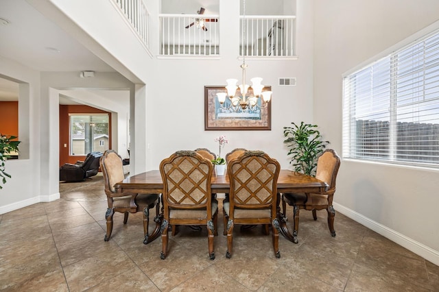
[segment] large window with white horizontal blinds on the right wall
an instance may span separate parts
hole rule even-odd
[[[343,156],[439,168],[439,32],[344,77]]]

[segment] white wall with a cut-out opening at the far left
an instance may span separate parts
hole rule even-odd
[[[0,56],[0,75],[21,83],[19,97],[19,135],[23,134],[19,160],[5,162],[12,175],[1,184],[0,214],[35,204],[40,197],[40,73]]]

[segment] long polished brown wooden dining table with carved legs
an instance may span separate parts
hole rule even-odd
[[[281,213],[279,206],[281,200],[281,193],[323,193],[327,190],[328,184],[322,182],[317,178],[297,173],[288,169],[281,169],[277,180],[277,204],[278,204],[278,221],[280,225],[279,231],[281,234],[292,241],[298,243],[297,237],[291,234],[287,228],[285,216]],[[158,170],[146,171],[137,175],[132,175],[125,180],[115,184],[117,192],[130,193],[150,193],[161,194],[163,192],[163,180]],[[212,193],[229,193],[230,182],[228,175],[216,175],[215,171],[211,180]],[[148,236],[147,243],[154,241],[161,234],[163,212],[154,218],[156,228]],[[145,243],[145,244],[147,244]]]

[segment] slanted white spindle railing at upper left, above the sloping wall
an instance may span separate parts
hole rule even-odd
[[[121,13],[126,17],[132,25],[134,32],[148,49],[150,46],[150,37],[148,34],[149,17],[143,0],[112,0],[117,5]]]

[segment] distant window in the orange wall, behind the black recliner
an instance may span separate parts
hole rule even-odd
[[[70,155],[109,149],[108,114],[70,114]]]

